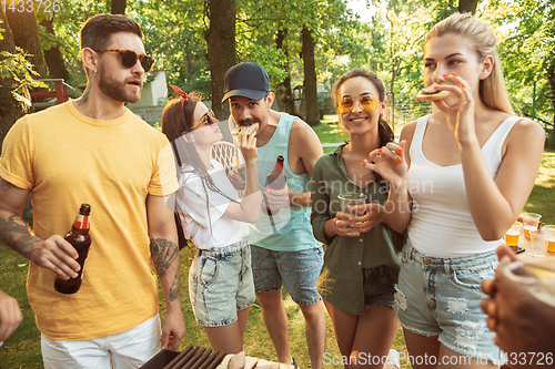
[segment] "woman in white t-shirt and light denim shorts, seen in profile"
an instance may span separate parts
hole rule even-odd
[[[181,99],[165,105],[162,132],[179,167],[178,226],[196,247],[189,270],[191,305],[214,350],[240,352],[255,300],[246,223],[260,215],[256,139],[246,131],[238,137],[248,178],[240,201],[222,165],[210,158],[212,145],[222,140],[218,120],[194,93],[172,88]]]

